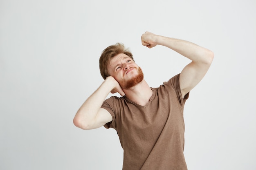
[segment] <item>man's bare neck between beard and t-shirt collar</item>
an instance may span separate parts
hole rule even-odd
[[[144,79],[136,86],[123,90],[128,99],[141,106],[145,106],[149,102],[153,94],[151,88],[148,86],[147,82]]]

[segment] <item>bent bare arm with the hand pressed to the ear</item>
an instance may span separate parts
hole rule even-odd
[[[117,80],[113,77],[107,77],[101,86],[79,108],[73,119],[74,125],[81,129],[89,130],[99,128],[112,121],[110,113],[101,108],[105,98],[111,91],[124,95],[124,91]]]

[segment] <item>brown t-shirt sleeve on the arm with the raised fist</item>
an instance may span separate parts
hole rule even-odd
[[[174,88],[177,98],[180,102],[181,105],[184,105],[186,102],[186,99],[189,98],[189,93],[187,93],[184,98],[182,97],[181,94],[181,89],[180,89],[180,74],[175,75],[174,77],[172,77],[169,81],[169,84],[171,84],[171,86]]]

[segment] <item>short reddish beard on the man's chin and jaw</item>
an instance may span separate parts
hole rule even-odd
[[[122,80],[121,82],[119,82],[121,88],[124,89],[129,89],[137,84],[139,84],[144,78],[144,74],[141,70],[141,68],[138,68],[138,75],[136,75],[135,77],[132,77],[131,79],[128,80]]]

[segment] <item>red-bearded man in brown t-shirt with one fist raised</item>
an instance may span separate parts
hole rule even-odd
[[[124,149],[123,170],[187,170],[183,108],[189,91],[207,73],[213,52],[150,32],[141,35],[141,42],[148,48],[166,46],[192,62],[159,88],[150,88],[130,51],[119,43],[109,46],[100,57],[105,81],[78,110],[74,124],[115,128]],[[105,100],[110,92],[122,97]]]

